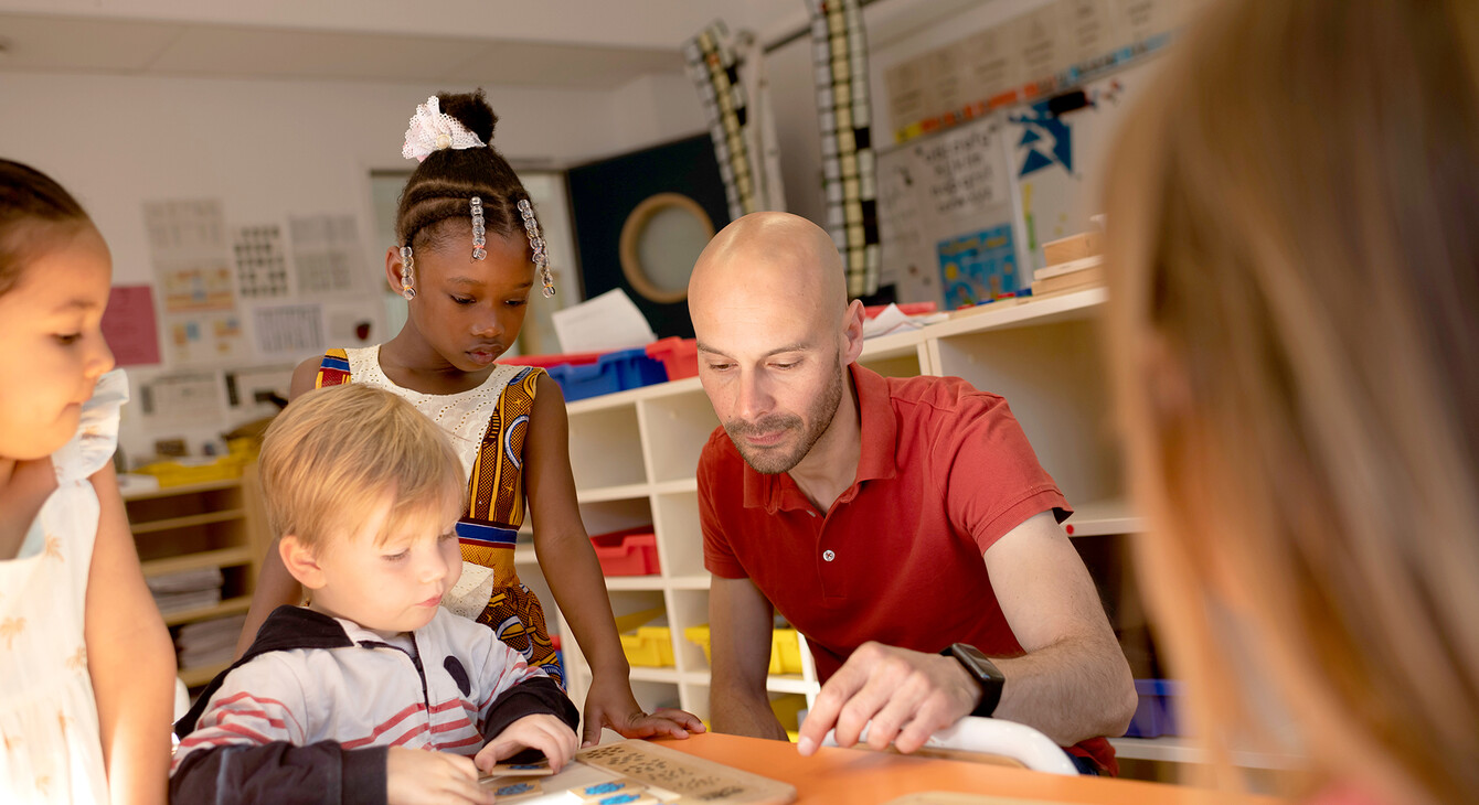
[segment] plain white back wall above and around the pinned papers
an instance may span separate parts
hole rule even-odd
[[[379,282],[386,244],[374,235],[370,171],[411,165],[401,158],[407,120],[442,89],[463,87],[0,72],[0,157],[78,196],[112,250],[117,285],[154,281],[142,204],[189,198],[223,199],[228,225],[353,213]],[[494,143],[516,165],[583,162],[704,130],[698,96],[679,77],[609,93],[485,89],[500,118]],[[130,369],[135,388],[158,374]],[[157,436],[200,449],[253,418],[161,433],[132,414],[123,446],[136,458]]]

